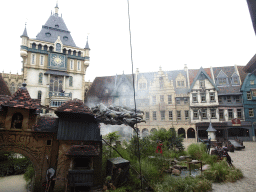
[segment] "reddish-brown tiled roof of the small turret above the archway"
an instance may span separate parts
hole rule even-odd
[[[40,100],[31,99],[26,87],[19,88],[8,101],[3,103],[7,107],[39,110]]]

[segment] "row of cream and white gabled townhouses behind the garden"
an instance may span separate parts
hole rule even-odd
[[[217,138],[252,140],[252,121],[247,120],[242,85],[247,73],[243,66],[134,74],[136,107],[146,123],[138,124],[141,136],[156,129],[174,128],[187,140],[208,137],[210,122]],[[86,104],[134,108],[132,75],[96,77],[87,93]],[[254,117],[252,117],[254,119]]]

